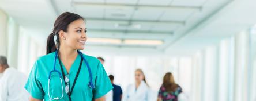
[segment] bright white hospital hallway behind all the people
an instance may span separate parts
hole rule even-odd
[[[55,20],[71,12],[84,18],[88,30],[81,52],[104,59],[105,78],[114,76],[123,99],[129,85],[136,84],[135,70],[141,69],[148,100],[157,100],[163,77],[170,72],[182,88],[179,100],[256,101],[255,4],[255,0],[0,0],[0,56],[28,80],[35,62],[46,55]],[[3,88],[0,101],[5,101]]]

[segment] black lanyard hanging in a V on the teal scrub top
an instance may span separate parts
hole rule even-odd
[[[59,55],[58,55],[58,60],[59,60],[59,65],[61,66],[61,72],[62,72],[63,80],[65,80],[65,73],[64,73],[64,71],[63,71],[63,67],[62,67],[62,65],[61,65],[61,59],[59,58]],[[70,92],[67,94],[67,95],[69,95],[69,100],[70,100],[70,101],[71,101],[71,94],[72,94],[72,92],[73,92],[74,86],[76,85],[77,77],[78,77],[78,75],[79,75],[79,73],[80,73],[81,66],[82,66],[82,58],[81,58],[80,65],[79,65],[79,68],[78,68],[78,71],[77,71],[77,75],[76,75],[76,77],[75,77],[75,79],[74,79],[73,86],[72,86],[72,88],[70,89]],[[69,80],[69,81],[70,81],[70,80]],[[64,82],[65,82],[65,81],[64,81]],[[65,85],[66,85],[66,84],[67,84],[67,83],[65,82]],[[70,84],[70,83],[69,83],[69,84]]]

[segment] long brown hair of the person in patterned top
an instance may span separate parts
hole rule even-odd
[[[176,89],[179,87],[179,85],[175,83],[174,76],[170,72],[164,75],[163,86],[166,88],[166,91],[168,92],[175,92]]]

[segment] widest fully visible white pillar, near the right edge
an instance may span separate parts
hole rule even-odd
[[[234,100],[248,100],[247,74],[249,57],[249,33],[242,32],[235,36],[235,72]]]

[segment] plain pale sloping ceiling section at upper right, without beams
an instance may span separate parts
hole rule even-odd
[[[256,22],[254,0],[235,0],[165,49],[167,53],[195,53],[205,46],[216,46],[224,38],[249,30]]]

